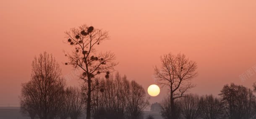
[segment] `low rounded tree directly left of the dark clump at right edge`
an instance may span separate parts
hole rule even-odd
[[[201,96],[200,101],[201,118],[203,119],[221,119],[225,114],[220,99],[211,95]]]

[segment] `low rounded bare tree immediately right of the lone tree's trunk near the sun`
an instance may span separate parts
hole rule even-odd
[[[179,106],[184,119],[198,119],[200,116],[199,96],[188,94],[180,98]]]

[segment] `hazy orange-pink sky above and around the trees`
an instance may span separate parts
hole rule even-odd
[[[98,50],[113,51],[116,70],[145,89],[154,84],[160,56],[169,52],[198,63],[191,93],[217,95],[225,84],[251,88],[256,81],[255,0],[2,0],[0,104],[19,103],[21,83],[30,80],[39,53],[52,53],[63,75],[72,73],[63,65],[63,50],[70,49],[64,31],[82,24],[109,31],[111,39]],[[242,82],[239,75],[250,68],[255,74]]]

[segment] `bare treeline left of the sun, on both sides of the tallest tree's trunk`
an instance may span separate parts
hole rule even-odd
[[[31,80],[22,84],[21,113],[31,119],[77,119],[87,109],[88,86],[67,87],[55,58],[46,52],[32,62]],[[143,119],[149,105],[144,88],[119,73],[91,81],[94,119]]]

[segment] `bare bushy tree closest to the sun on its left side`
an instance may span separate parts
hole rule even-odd
[[[149,105],[149,99],[145,99],[146,92],[141,85],[131,81],[130,92],[126,96],[126,111],[128,119],[143,119],[143,110]]]

